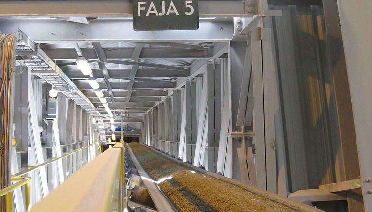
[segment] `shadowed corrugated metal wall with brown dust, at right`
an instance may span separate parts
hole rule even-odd
[[[275,5],[272,19],[289,191],[333,183],[340,146],[322,6]],[[338,170],[337,170],[338,171]]]

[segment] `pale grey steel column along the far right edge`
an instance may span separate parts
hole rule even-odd
[[[338,0],[356,130],[364,210],[372,211],[372,2]],[[368,26],[368,27],[367,27]]]

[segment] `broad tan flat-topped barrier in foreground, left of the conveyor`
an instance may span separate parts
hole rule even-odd
[[[32,206],[30,212],[122,212],[122,152],[122,147],[107,149]]]

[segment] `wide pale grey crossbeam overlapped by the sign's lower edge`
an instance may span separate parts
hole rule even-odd
[[[17,1],[17,3],[18,2],[20,1]],[[74,3],[75,2],[77,1],[74,1]],[[243,2],[240,3],[242,5],[244,4]],[[15,9],[19,8],[18,4],[16,4],[16,6],[14,3],[11,5],[14,6]],[[55,4],[50,5],[54,7]],[[84,7],[88,5],[90,4],[84,3]],[[0,14],[2,14],[3,11],[2,6],[3,4],[0,4]],[[61,8],[63,7],[58,8],[58,10],[62,11]],[[241,9],[243,9],[243,7]],[[223,11],[220,8],[219,10]],[[153,42],[155,38],[160,42],[186,42],[190,40],[195,42],[221,42],[231,40],[234,33],[233,21],[200,21],[199,29],[197,30],[140,32],[133,30],[132,21],[115,19],[98,19],[91,21],[89,25],[57,19],[1,19],[0,26],[3,33],[14,33],[17,28],[22,29],[22,31],[36,43],[105,42],[108,40],[117,42],[123,40],[131,40],[132,42]]]

